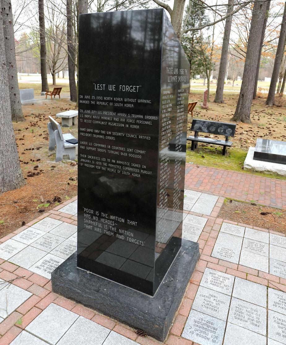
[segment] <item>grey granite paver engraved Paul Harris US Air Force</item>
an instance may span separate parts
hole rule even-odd
[[[228,322],[266,335],[266,308],[232,297]]]

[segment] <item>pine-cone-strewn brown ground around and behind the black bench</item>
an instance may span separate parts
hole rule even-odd
[[[210,93],[209,109],[200,109],[202,101],[202,93],[191,93],[189,101],[198,101],[194,109],[194,118],[202,118],[206,120],[214,120],[221,122],[230,121],[234,115],[238,94],[225,95],[224,104],[212,102],[214,100],[214,92]],[[240,122],[236,126],[235,136],[230,138],[233,141],[233,147],[247,149],[249,146],[255,146],[257,138],[286,140],[286,107],[268,107],[265,105],[266,98],[258,98],[253,101],[250,119],[252,124],[244,124]],[[192,118],[188,118],[188,129],[191,128]],[[233,122],[235,123],[235,122]],[[189,135],[194,132],[189,131]],[[222,136],[206,134],[212,138],[222,139]]]

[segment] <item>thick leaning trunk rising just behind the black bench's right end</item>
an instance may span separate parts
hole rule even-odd
[[[254,3],[249,31],[243,78],[238,97],[237,107],[231,120],[251,123],[250,107],[252,103],[260,38],[266,14],[267,4],[264,1]]]

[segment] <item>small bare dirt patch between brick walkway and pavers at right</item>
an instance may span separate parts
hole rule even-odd
[[[225,199],[218,217],[286,234],[286,212],[280,209]]]

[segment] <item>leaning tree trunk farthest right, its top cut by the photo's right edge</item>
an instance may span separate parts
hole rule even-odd
[[[285,36],[286,36],[286,3],[284,5],[284,13],[283,13],[283,18],[282,18],[282,23],[281,23],[281,28],[280,28],[280,36],[278,40],[278,46],[277,46],[277,51],[276,51],[276,56],[275,56],[275,61],[274,61],[271,82],[270,82],[269,91],[268,91],[268,97],[266,100],[266,104],[269,106],[275,105],[276,83],[277,83],[277,78],[280,71],[283,52],[284,52]]]

